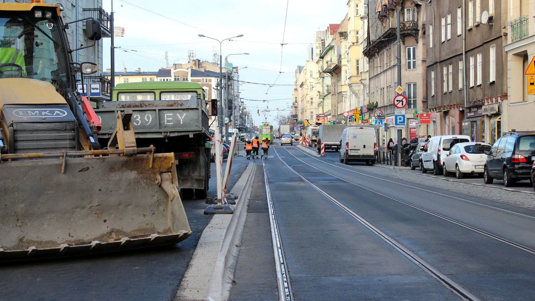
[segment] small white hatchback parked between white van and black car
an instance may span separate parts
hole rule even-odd
[[[447,156],[442,159],[442,174],[449,176],[455,172],[457,179],[462,179],[464,174],[483,175],[487,155],[492,146],[484,142],[461,142],[449,150]]]

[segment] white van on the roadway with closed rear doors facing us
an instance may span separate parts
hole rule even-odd
[[[342,133],[340,162],[375,164],[377,137],[373,127],[350,126]]]

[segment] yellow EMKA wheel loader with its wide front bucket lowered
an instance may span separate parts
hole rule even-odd
[[[38,2],[38,1],[33,1]],[[86,18],[88,40],[100,23]],[[75,21],[77,22],[77,21]],[[108,145],[75,87],[60,5],[0,4],[0,261],[174,244],[192,234],[173,153],[137,148],[131,111]],[[83,75],[82,75],[83,76]]]

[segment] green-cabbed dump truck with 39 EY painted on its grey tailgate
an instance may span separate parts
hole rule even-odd
[[[182,198],[205,199],[210,178],[208,101],[201,84],[187,81],[145,81],[118,84],[112,101],[98,104],[101,143],[110,139],[118,112],[132,110],[136,144],[154,145],[158,153],[174,153]]]

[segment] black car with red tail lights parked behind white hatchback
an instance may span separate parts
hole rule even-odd
[[[531,180],[535,160],[535,132],[509,132],[494,142],[485,162],[485,184],[503,179],[503,185],[513,186],[518,180]]]

